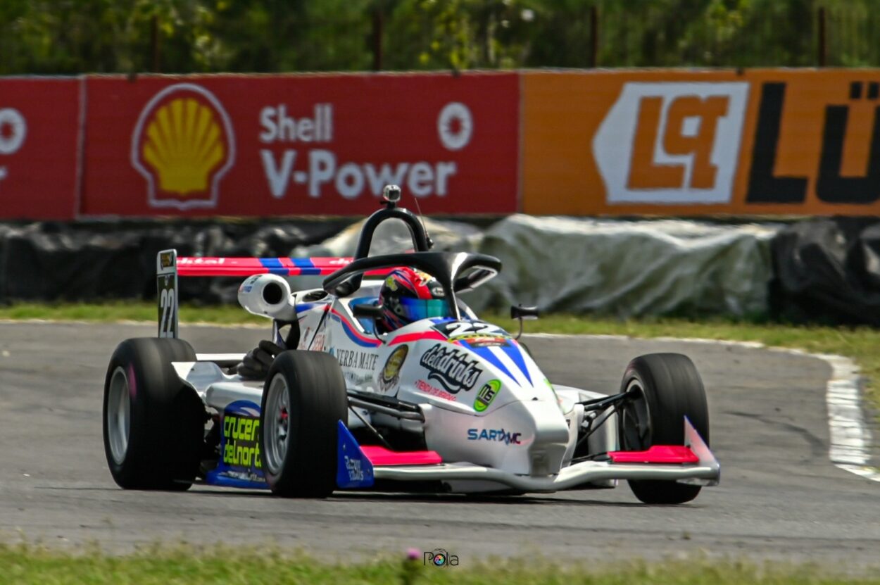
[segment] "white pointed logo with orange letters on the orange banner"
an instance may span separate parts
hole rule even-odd
[[[606,201],[729,203],[748,93],[744,82],[624,84],[592,142]]]

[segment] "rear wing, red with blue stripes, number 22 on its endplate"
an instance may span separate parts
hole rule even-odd
[[[178,276],[320,276],[348,266],[351,258],[192,258],[177,250],[156,257],[159,337],[178,337]]]

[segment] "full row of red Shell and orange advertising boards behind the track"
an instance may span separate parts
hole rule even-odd
[[[877,216],[880,69],[0,80],[0,219]]]

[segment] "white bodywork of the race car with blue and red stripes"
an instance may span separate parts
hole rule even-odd
[[[613,486],[617,479],[681,479],[704,484],[718,479],[715,458],[689,424],[686,442],[693,445],[699,464],[571,464],[584,416],[583,406],[577,403],[604,395],[550,384],[517,340],[495,325],[476,320],[466,308],[461,321],[422,319],[377,335],[370,323],[355,318],[351,307],[375,303],[381,281],[364,281],[352,296],[324,296],[312,302],[303,299],[319,296],[319,291],[290,293],[285,282],[279,306],[262,303],[257,308],[249,303],[248,292],[261,290],[270,278],[282,281],[264,274],[243,283],[239,302],[248,311],[270,318],[274,312],[295,314],[301,333],[297,349],[333,354],[350,392],[420,407],[423,421],[357,409],[376,428],[423,434],[427,448],[444,461],[377,467],[377,479],[439,480],[458,492],[552,492],[585,484]],[[199,355],[199,362],[175,362],[174,367],[208,406],[223,413],[238,400],[261,403],[262,381],[225,374],[215,363],[237,362],[241,357]],[[351,411],[347,423],[349,428],[363,426]],[[590,435],[590,453],[617,448],[615,425],[616,418],[611,416]]]

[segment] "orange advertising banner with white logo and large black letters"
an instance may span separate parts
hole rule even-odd
[[[880,70],[522,75],[524,213],[880,215]]]

